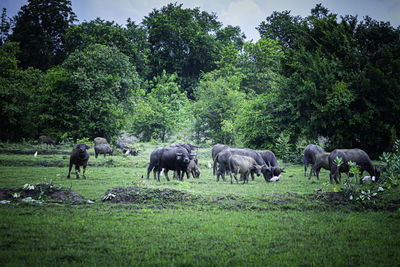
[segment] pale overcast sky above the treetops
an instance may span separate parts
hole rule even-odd
[[[240,26],[248,40],[260,38],[255,29],[273,11],[290,10],[292,15],[306,17],[316,4],[338,15],[358,15],[359,20],[370,16],[378,21],[389,21],[397,28],[400,24],[399,0],[71,0],[72,10],[80,22],[96,17],[124,25],[127,18],[139,24],[154,8],[168,3],[182,3],[184,8],[200,7],[214,12],[224,26]],[[7,8],[7,15],[18,13],[24,0],[0,0],[0,7]]]

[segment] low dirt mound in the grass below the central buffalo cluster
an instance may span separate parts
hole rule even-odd
[[[176,202],[191,202],[197,197],[179,190],[174,189],[153,189],[144,187],[114,187],[107,190],[103,197],[103,201],[112,203],[135,203],[135,204],[157,204],[164,205]]]

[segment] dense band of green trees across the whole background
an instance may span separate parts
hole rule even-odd
[[[287,155],[319,137],[371,155],[398,138],[400,28],[274,12],[259,41],[214,13],[169,4],[142,22],[78,23],[68,0],[29,0],[0,25],[1,140],[125,130]]]

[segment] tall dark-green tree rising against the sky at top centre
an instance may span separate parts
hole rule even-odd
[[[222,24],[216,15],[198,8],[183,9],[182,4],[168,4],[154,9],[142,24],[150,44],[151,75],[159,76],[164,70],[177,73],[183,90],[190,95],[200,73],[213,70],[218,60],[213,33]]]

